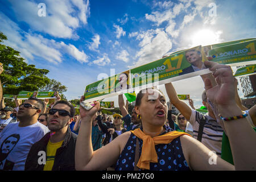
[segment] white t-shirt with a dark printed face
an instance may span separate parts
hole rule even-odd
[[[0,133],[0,169],[22,171],[32,144],[49,132],[48,127],[36,122],[19,127],[10,123]]]

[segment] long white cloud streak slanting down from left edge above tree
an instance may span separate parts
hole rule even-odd
[[[80,63],[88,61],[84,51],[79,51],[72,44],[67,45],[63,42],[56,42],[38,34],[28,34],[2,13],[0,13],[0,24],[2,25],[1,31],[8,38],[5,41],[5,45],[19,51],[20,56],[27,60],[34,60],[35,56],[38,56],[56,64],[61,63],[63,55],[67,54],[80,61]]]

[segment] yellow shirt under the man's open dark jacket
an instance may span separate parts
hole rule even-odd
[[[44,171],[52,171],[52,167],[55,160],[56,151],[61,147],[63,140],[57,143],[52,143],[50,140],[46,147],[46,165],[44,165]]]

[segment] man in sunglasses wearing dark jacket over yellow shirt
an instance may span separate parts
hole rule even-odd
[[[74,106],[68,101],[57,101],[48,111],[47,126],[50,130],[31,147],[25,170],[74,171],[77,135],[69,127],[75,115]]]

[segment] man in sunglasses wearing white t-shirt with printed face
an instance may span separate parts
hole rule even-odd
[[[0,133],[0,145],[2,146],[6,139],[15,135],[15,146],[7,152],[8,155],[0,154],[3,170],[24,170],[24,165],[28,152],[32,144],[38,142],[46,133],[48,128],[38,122],[40,112],[44,107],[43,101],[38,98],[29,98],[19,105],[17,118],[19,122],[9,123]],[[7,144],[7,143],[6,143]],[[7,147],[6,147],[7,148]],[[3,162],[3,160],[5,162]],[[0,161],[1,162],[1,161]]]

